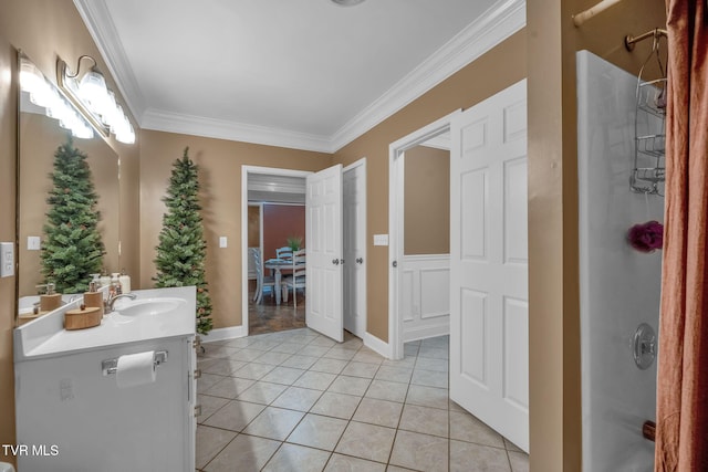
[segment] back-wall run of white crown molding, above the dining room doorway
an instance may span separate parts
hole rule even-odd
[[[317,153],[333,153],[332,141],[326,136],[248,125],[227,119],[170,113],[155,108],[145,111],[142,128]]]

